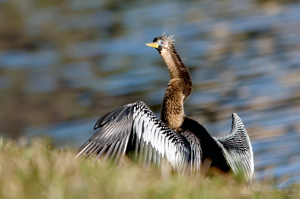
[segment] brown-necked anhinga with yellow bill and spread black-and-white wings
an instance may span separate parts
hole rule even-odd
[[[241,119],[232,114],[228,135],[212,137],[207,130],[184,114],[184,101],[192,93],[189,70],[177,53],[173,35],[155,37],[147,46],[158,50],[170,73],[158,118],[143,102],[124,105],[105,114],[98,129],[79,147],[76,158],[100,156],[122,164],[125,153],[144,165],[171,165],[178,174],[200,175],[205,160],[210,167],[243,174],[250,186],[254,173],[253,150]]]

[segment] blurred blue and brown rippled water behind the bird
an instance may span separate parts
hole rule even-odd
[[[0,133],[79,147],[117,107],[160,116],[170,76],[145,43],[163,32],[193,78],[185,114],[220,136],[237,113],[255,178],[300,182],[300,1],[0,0]]]

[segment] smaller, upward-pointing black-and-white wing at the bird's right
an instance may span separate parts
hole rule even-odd
[[[250,139],[238,115],[232,114],[230,134],[213,138],[221,147],[232,171],[235,174],[243,172],[250,185],[254,173],[253,151]]]

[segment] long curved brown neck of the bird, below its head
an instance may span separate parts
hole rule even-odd
[[[161,120],[170,128],[179,130],[185,117],[183,102],[192,92],[192,79],[173,46],[170,49],[163,49],[160,54],[171,78],[164,96]]]

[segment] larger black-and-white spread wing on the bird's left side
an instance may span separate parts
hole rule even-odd
[[[100,128],[100,129],[98,129]],[[118,108],[96,123],[95,134],[83,144],[76,157],[105,158],[120,164],[128,148],[146,164],[161,164],[167,160],[174,169],[183,173],[187,165],[199,171],[201,148],[194,136],[175,132],[166,126],[143,102],[135,102]],[[196,141],[195,141],[196,139]],[[191,147],[191,142],[199,144]],[[188,168],[187,168],[188,169]]]

